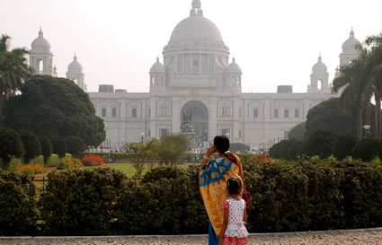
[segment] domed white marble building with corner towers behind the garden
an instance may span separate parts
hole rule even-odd
[[[351,31],[342,44],[340,66],[358,56],[358,43]],[[231,143],[266,149],[304,122],[309,109],[333,97],[321,57],[312,67],[306,92],[280,85],[276,93],[244,93],[241,68],[229,55],[218,27],[204,17],[200,0],[193,0],[190,16],[175,26],[164,46],[163,63],[157,57],[149,70],[149,92],[127,92],[111,84],[89,92],[96,115],[105,123],[102,145],[114,149],[151,137],[192,132],[200,146],[214,136],[227,135]],[[39,74],[57,75],[52,57],[40,30],[31,44],[30,65]],[[76,55],[67,67],[67,78],[86,91]]]

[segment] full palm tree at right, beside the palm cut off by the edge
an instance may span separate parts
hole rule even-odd
[[[373,88],[367,69],[368,51],[359,47],[360,56],[351,64],[340,68],[340,75],[333,80],[332,92],[342,89],[340,101],[342,106],[356,110],[357,136],[362,137],[362,111],[367,108]]]

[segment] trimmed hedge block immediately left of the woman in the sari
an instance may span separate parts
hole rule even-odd
[[[198,167],[159,167],[122,190],[118,227],[130,234],[202,233],[208,217],[199,193]],[[134,206],[136,212],[131,212]],[[143,215],[144,214],[144,215]]]

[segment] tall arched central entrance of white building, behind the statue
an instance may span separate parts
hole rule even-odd
[[[181,125],[191,120],[195,143],[202,146],[209,139],[209,109],[200,101],[188,101],[181,110]]]

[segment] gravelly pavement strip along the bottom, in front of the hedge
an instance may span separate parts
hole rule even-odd
[[[208,244],[207,235],[110,237],[0,237],[0,244]],[[382,228],[325,232],[253,233],[248,244],[382,244]]]

